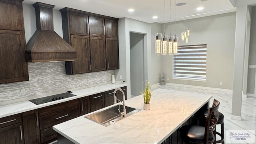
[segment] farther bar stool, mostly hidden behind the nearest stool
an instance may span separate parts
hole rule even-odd
[[[208,110],[206,110],[204,112],[204,117],[205,118],[207,118],[207,114],[208,114]],[[225,144],[225,142],[224,142],[224,115],[221,112],[219,112],[219,120],[218,120],[217,124],[220,124],[221,133],[216,132],[216,134],[218,134],[221,137],[221,139],[220,140],[215,140],[215,143]]]

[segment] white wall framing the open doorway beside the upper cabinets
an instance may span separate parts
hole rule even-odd
[[[160,69],[159,63],[152,62],[155,58],[154,53],[152,53],[152,33],[151,24],[146,22],[141,22],[138,20],[133,20],[130,18],[121,18],[118,21],[118,35],[119,35],[119,62],[120,69],[115,70],[116,80],[120,80],[119,76],[122,75],[122,80],[127,81],[127,98],[130,98],[130,32],[135,32],[139,34],[144,34],[144,56],[145,56],[145,80],[152,81],[153,83],[158,83],[156,78],[158,75],[156,71]],[[160,59],[160,57],[156,58]],[[156,81],[156,82],[155,82]]]

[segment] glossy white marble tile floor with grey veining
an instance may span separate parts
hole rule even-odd
[[[226,130],[255,130],[256,131],[256,98],[255,97],[242,98],[242,112],[241,112],[242,121],[238,121],[238,120],[231,120],[232,91],[221,90],[221,89],[214,90],[211,88],[204,88],[204,87],[193,88],[186,85],[184,86],[165,85],[165,86],[159,86],[159,87],[163,89],[168,89],[168,90],[177,90],[177,91],[183,91],[183,92],[212,95],[213,97],[210,100],[210,106],[212,105],[214,98],[220,101],[219,112],[222,112],[222,114],[224,114],[225,137],[226,137]],[[220,132],[220,126],[217,125],[216,131]],[[220,137],[217,136],[217,140],[219,138]],[[225,140],[225,143],[231,143],[231,142],[227,142]]]

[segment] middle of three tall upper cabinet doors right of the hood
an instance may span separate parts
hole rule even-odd
[[[105,38],[90,37],[92,72],[106,70]]]

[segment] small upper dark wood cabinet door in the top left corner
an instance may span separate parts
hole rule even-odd
[[[24,30],[22,2],[0,1],[0,29]]]

